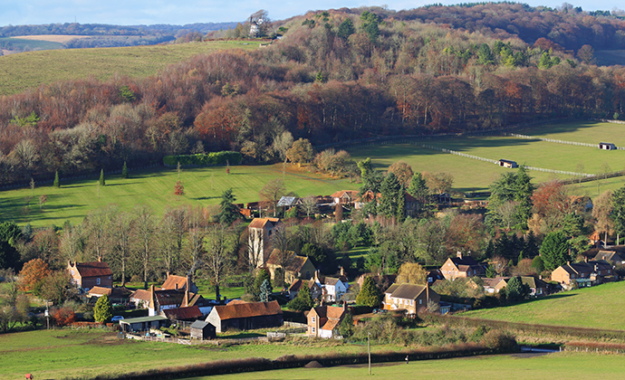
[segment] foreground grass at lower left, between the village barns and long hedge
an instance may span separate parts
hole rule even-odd
[[[399,349],[372,347],[374,352]],[[363,352],[366,347],[335,345],[332,341],[190,347],[120,340],[115,333],[100,329],[39,330],[0,335],[0,379],[24,378],[28,373],[37,379],[83,378],[243,357],[275,359],[284,355]]]

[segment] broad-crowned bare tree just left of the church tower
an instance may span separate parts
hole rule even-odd
[[[219,299],[219,287],[236,262],[236,235],[222,223],[213,224],[207,230],[204,248],[207,252],[204,267]]]

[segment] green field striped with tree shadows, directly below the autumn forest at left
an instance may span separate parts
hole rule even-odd
[[[186,195],[177,200],[174,185],[178,181],[176,169],[130,172],[130,178],[107,177],[106,186],[100,187],[98,198],[97,180],[81,180],[63,183],[61,188],[51,185],[36,187],[34,196],[30,188],[7,190],[0,193],[0,220],[15,223],[31,223],[34,226],[61,225],[69,220],[81,223],[89,212],[107,204],[117,204],[121,209],[132,210],[138,204],[149,204],[156,214],[162,214],[167,207],[177,205],[208,206],[218,204],[221,193],[232,187],[236,202],[247,203],[259,200],[258,192],[270,180],[282,178],[282,165],[274,166],[230,166],[230,175],[225,167],[183,168],[180,181]],[[357,189],[358,184],[349,180],[330,180],[306,172],[289,172],[284,176],[287,193],[294,195],[331,195],[342,189]],[[39,209],[39,196],[47,195],[47,203]]]

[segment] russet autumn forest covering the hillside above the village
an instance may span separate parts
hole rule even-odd
[[[490,9],[510,23],[526,12],[553,28],[558,20],[604,25],[605,39],[625,31],[616,16],[568,8],[442,8],[474,19]],[[622,118],[625,69],[596,66],[592,44],[573,52],[549,35],[528,42],[519,36],[530,34],[472,32],[377,11],[275,22],[272,33],[283,38],[266,49],[200,55],[148,79],[57,82],[3,97],[0,183],[225,149],[248,163],[272,162],[282,158],[275,146],[284,132],[320,145],[535,119]]]

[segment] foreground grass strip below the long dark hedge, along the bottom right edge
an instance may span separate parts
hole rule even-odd
[[[586,353],[555,353],[546,356],[521,357],[477,356],[443,360],[392,364],[374,364],[371,373],[376,379],[429,380],[445,378],[464,380],[484,379],[622,379],[622,355],[593,355]],[[329,368],[297,368],[265,372],[249,372],[236,375],[194,377],[209,379],[275,379],[317,380],[320,378],[353,379],[368,377],[367,365],[335,366]]]

